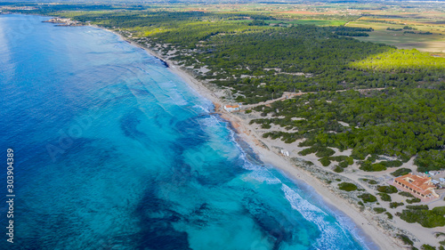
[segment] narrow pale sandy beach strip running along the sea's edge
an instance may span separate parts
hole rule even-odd
[[[237,113],[229,113],[222,109],[224,102],[219,99],[211,90],[209,90],[206,85],[201,83],[198,79],[191,76],[189,72],[181,69],[175,61],[168,60],[160,55],[158,52],[151,50],[148,47],[144,47],[141,44],[137,44],[131,39],[127,39],[125,36],[117,33],[115,30],[110,30],[108,28],[102,28],[96,25],[90,25],[94,28],[101,28],[107,30],[117,36],[119,36],[123,41],[132,44],[136,47],[143,49],[150,55],[156,57],[166,64],[166,68],[170,69],[172,73],[181,77],[184,82],[190,86],[191,89],[195,90],[198,94],[203,96],[214,104],[214,113],[219,114],[224,120],[229,122],[232,129],[237,133],[242,141],[247,142],[253,152],[263,161],[265,165],[271,165],[272,167],[278,169],[280,172],[284,173],[287,178],[291,181],[303,181],[304,184],[312,187],[316,191],[317,195],[320,196],[322,201],[330,209],[336,209],[342,214],[346,215],[351,222],[359,229],[358,234],[360,237],[366,240],[371,240],[375,246],[380,249],[404,249],[402,246],[396,242],[395,238],[388,235],[388,232],[384,231],[380,226],[376,225],[376,221],[373,220],[372,216],[374,214],[368,213],[364,214],[359,211],[355,206],[352,206],[345,198],[336,194],[333,190],[329,190],[325,183],[320,181],[319,178],[313,176],[310,172],[296,166],[294,163],[289,161],[286,157],[279,156],[279,154],[271,150],[271,145],[264,143],[261,137],[255,133],[255,128],[253,128],[248,123],[244,122],[242,118],[237,116]],[[269,143],[270,144],[270,143]],[[266,149],[266,146],[269,149]],[[301,157],[304,159],[304,157]],[[336,211],[334,211],[336,212]],[[366,242],[365,242],[366,243]]]

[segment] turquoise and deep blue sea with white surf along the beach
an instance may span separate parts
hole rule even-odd
[[[46,19],[0,16],[0,158],[14,150],[16,194],[14,244],[2,234],[1,249],[376,247],[255,160],[160,60]]]

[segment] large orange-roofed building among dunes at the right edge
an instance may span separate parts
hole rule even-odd
[[[434,191],[436,186],[431,181],[431,177],[408,173],[394,178],[394,186],[408,190],[411,194],[420,198],[439,198],[439,195]]]

